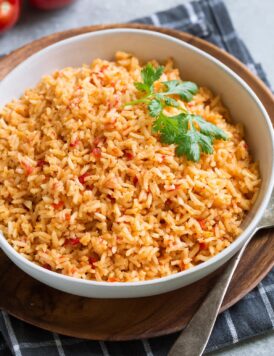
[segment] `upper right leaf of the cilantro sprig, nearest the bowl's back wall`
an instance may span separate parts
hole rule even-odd
[[[191,101],[193,95],[198,92],[198,87],[192,82],[181,82],[180,80],[170,80],[163,82],[166,87],[164,95],[178,94],[181,99],[185,101]]]

